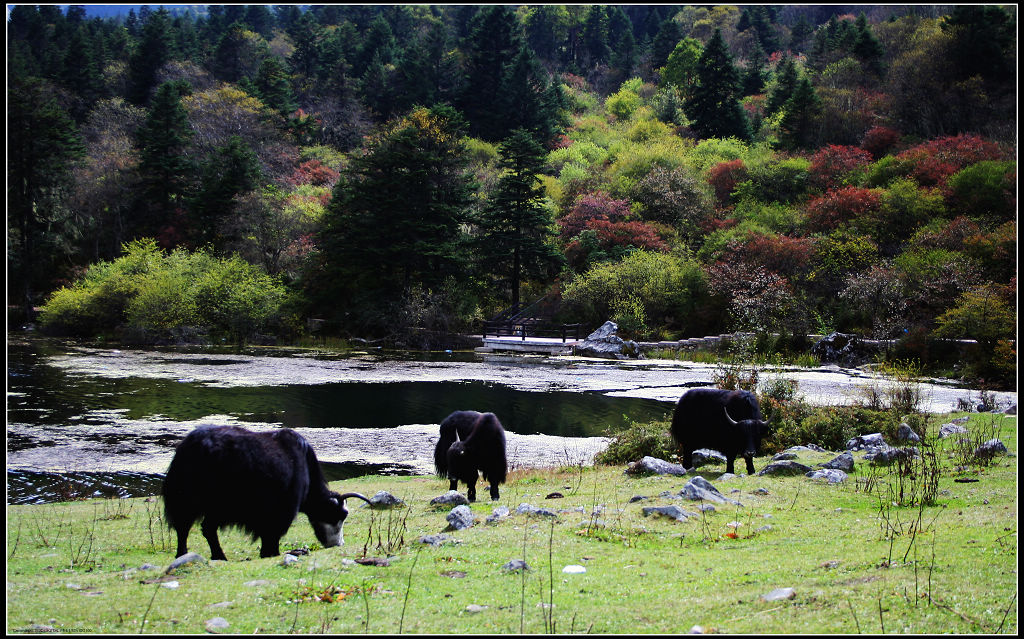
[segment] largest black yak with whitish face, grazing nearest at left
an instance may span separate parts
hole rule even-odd
[[[312,446],[290,428],[255,433],[238,426],[201,426],[177,446],[164,479],[167,524],[178,535],[177,557],[188,552],[188,530],[203,520],[211,559],[226,559],[217,529],[236,526],[261,540],[260,557],[281,553],[281,538],[305,513],[325,548],[344,544],[345,500],[330,491]]]

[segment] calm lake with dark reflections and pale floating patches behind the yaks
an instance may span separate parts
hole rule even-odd
[[[717,368],[685,361],[474,352],[345,355],[304,349],[103,348],[22,334],[7,339],[7,502],[159,493],[174,445],[202,424],[287,426],[330,480],[429,474],[437,425],[453,411],[495,413],[512,468],[590,464],[628,421],[667,419]],[[870,372],[765,370],[815,404],[863,400]],[[979,393],[920,384],[922,409]],[[995,393],[1016,406],[1016,392]]]

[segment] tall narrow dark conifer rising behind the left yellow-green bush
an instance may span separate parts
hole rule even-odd
[[[145,122],[136,132],[141,176],[140,235],[155,235],[172,218],[195,176],[185,147],[193,135],[181,97],[187,83],[165,82],[157,89]]]

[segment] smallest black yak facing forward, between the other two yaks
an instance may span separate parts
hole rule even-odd
[[[497,500],[498,484],[505,483],[508,474],[508,461],[505,429],[495,414],[456,411],[441,422],[440,434],[434,446],[434,468],[438,476],[451,481],[450,489],[458,489],[462,481],[468,486],[466,497],[475,502],[479,472],[490,482],[490,499]]]

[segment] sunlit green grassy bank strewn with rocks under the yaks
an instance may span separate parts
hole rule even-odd
[[[315,546],[300,516],[282,548],[311,552],[287,566],[226,531],[228,561],[164,577],[174,542],[159,500],[8,506],[7,632],[200,633],[222,617],[219,632],[229,633],[1016,634],[1016,418],[975,415],[968,427],[977,420],[994,422],[1010,455],[964,464],[950,439],[937,440],[934,505],[904,495],[925,477],[872,468],[860,454],[841,484],[720,480],[724,468],[703,467],[742,506],[683,522],[642,508],[699,512],[659,497],[687,477],[632,477],[623,466],[514,471],[498,504],[472,506],[475,525],[433,547],[419,539],[446,525],[446,510],[429,506],[446,482],[362,477],[332,487],[388,491],[409,507],[353,505],[346,545],[332,549]],[[809,466],[834,457],[799,456]],[[554,492],[564,497],[546,499]],[[649,499],[630,503],[634,496]],[[558,517],[517,514],[522,503]],[[512,513],[485,523],[499,505]],[[209,554],[198,527],[189,550]],[[389,565],[353,561],[365,558]],[[513,559],[530,569],[503,570]],[[563,572],[567,565],[586,572]],[[762,599],[780,588],[793,598]]]

